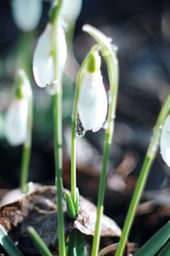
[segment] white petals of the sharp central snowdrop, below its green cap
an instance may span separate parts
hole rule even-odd
[[[78,114],[83,128],[98,131],[105,122],[107,96],[101,72],[85,73],[82,78]]]

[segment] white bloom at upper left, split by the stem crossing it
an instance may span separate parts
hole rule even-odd
[[[48,24],[38,39],[37,47],[33,57],[33,73],[37,85],[45,87],[54,82],[54,58],[52,53],[52,32],[53,26]],[[58,61],[61,72],[65,67],[67,48],[65,42],[65,33],[62,27],[58,31],[59,40],[57,40],[59,53]],[[57,47],[57,46],[56,46]]]

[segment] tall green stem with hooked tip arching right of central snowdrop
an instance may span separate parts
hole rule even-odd
[[[116,53],[112,50],[111,44],[108,38],[102,32],[95,29],[93,26],[83,26],[83,30],[88,32],[100,45],[101,53],[105,59],[105,63],[108,70],[109,81],[110,81],[110,93],[111,102],[109,102],[109,113],[107,118],[107,128],[105,130],[105,144],[104,154],[102,161],[102,170],[99,181],[99,195],[97,204],[97,219],[94,231],[94,241],[92,247],[92,256],[97,256],[99,252],[99,236],[100,236],[100,225],[103,214],[103,205],[105,198],[105,185],[107,176],[108,160],[111,148],[111,140],[114,130],[114,119],[116,115],[116,99],[118,90],[118,65],[116,59]]]

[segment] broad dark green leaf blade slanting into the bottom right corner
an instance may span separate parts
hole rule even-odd
[[[170,221],[165,224],[161,230],[158,230],[154,236],[139,249],[134,256],[152,256],[159,252],[170,238]],[[163,255],[163,254],[162,254]],[[169,254],[170,255],[170,254]]]

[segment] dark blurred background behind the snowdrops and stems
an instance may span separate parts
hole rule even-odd
[[[24,1],[24,0],[23,0]],[[18,187],[22,147],[11,147],[4,135],[4,116],[13,99],[18,67],[26,69],[34,96],[34,125],[29,180],[54,184],[52,97],[37,87],[32,55],[48,22],[50,1],[42,2],[37,29],[22,32],[14,22],[11,1],[0,3],[0,188]],[[120,86],[116,131],[111,148],[105,213],[122,226],[136,184],[152,128],[170,83],[170,2],[165,0],[82,0],[76,26],[67,30],[70,54],[64,77],[64,183],[70,188],[71,110],[78,65],[94,41],[82,32],[88,23],[118,46]],[[75,28],[75,30],[74,30]],[[66,28],[65,28],[66,29]],[[73,44],[71,45],[71,38]],[[105,88],[108,78],[103,65]],[[105,130],[77,137],[77,184],[82,195],[96,202]],[[146,185],[143,203],[133,227],[132,240],[143,243],[170,216],[170,170],[157,154]],[[166,209],[166,211],[165,211]],[[139,233],[139,225],[144,233]]]

